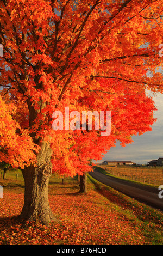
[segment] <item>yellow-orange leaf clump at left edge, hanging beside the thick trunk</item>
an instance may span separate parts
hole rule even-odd
[[[39,147],[33,144],[32,138],[13,120],[16,107],[12,103],[5,104],[0,96],[0,161],[10,163],[12,167],[35,164],[33,153]]]

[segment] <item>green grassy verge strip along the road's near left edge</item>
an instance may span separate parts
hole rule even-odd
[[[141,233],[147,241],[150,241],[151,245],[163,245],[163,214],[161,212],[115,191],[91,176],[89,176],[89,179],[98,193],[111,200],[112,209],[126,216],[127,220],[133,223],[136,228],[139,227]]]

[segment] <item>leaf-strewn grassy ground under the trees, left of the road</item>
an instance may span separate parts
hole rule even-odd
[[[12,173],[13,174],[13,173]],[[11,174],[11,175],[12,175]],[[10,173],[7,174],[10,176]],[[0,179],[0,245],[162,245],[163,214],[112,188],[87,180],[87,193],[79,193],[78,180],[52,176],[49,203],[60,223],[18,222],[24,184]]]

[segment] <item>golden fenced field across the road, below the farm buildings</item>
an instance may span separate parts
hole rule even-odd
[[[163,185],[163,167],[100,166],[106,172],[123,179],[129,179],[153,186]]]

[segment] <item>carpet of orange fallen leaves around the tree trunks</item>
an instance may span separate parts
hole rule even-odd
[[[79,186],[74,183],[49,186],[49,203],[61,222],[46,227],[39,222],[16,221],[13,217],[21,212],[24,190],[4,188],[4,198],[0,199],[0,245],[149,244],[135,211],[132,218],[124,214],[123,200],[117,206],[91,184],[86,194],[78,191]],[[115,196],[110,192],[110,197]]]

